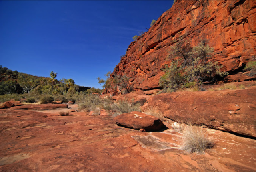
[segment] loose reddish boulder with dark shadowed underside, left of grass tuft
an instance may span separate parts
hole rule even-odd
[[[114,118],[117,125],[135,130],[158,131],[165,127],[160,119],[141,112],[123,113]]]

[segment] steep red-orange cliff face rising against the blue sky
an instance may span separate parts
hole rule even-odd
[[[185,34],[192,45],[207,38],[214,47],[211,61],[219,61],[229,75],[238,74],[246,63],[256,60],[255,18],[256,1],[177,1],[129,45],[112,75],[127,75],[135,90],[159,88],[161,67],[169,63],[168,51]],[[228,79],[240,81],[245,76]]]

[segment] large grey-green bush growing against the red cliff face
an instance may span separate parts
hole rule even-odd
[[[184,88],[188,83],[196,83],[202,85],[203,81],[216,81],[216,77],[224,77],[227,72],[222,72],[222,66],[218,65],[218,61],[212,63],[208,59],[213,53],[213,48],[207,45],[207,40],[195,47],[190,45],[188,40],[182,38],[171,48],[170,57],[178,57],[170,63],[162,71],[165,74],[160,78],[159,84],[163,87],[164,92],[172,92],[178,88]]]

